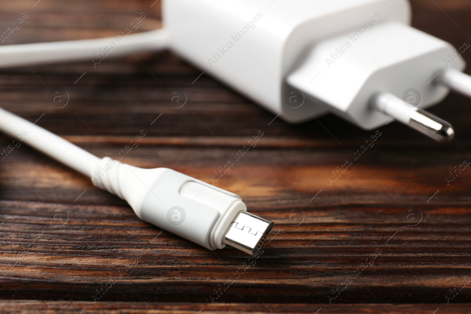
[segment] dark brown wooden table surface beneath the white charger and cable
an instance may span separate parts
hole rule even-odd
[[[1,45],[113,36],[140,12],[139,31],[161,26],[161,1],[35,3],[0,1],[1,32],[28,14]],[[415,27],[471,42],[469,0],[414,0],[413,12]],[[275,222],[256,263],[144,223],[21,145],[0,161],[0,313],[471,312],[471,169],[446,181],[471,160],[470,99],[452,93],[430,108],[455,126],[454,141],[389,124],[329,185],[375,131],[332,115],[286,124],[201,73],[168,51],[2,69],[0,104],[99,157],[145,132],[122,162],[205,182],[261,130],[215,182]],[[11,142],[0,135],[1,150]]]

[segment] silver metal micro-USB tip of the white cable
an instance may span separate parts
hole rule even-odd
[[[241,210],[224,233],[222,242],[255,256],[273,225],[272,221]]]

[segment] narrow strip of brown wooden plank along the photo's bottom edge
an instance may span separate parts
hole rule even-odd
[[[0,301],[1,313],[148,313],[148,314],[197,314],[197,313],[347,313],[347,314],[385,314],[385,313],[410,313],[430,314],[437,310],[435,304],[262,304],[262,303],[143,303],[143,302],[80,302],[80,301]],[[439,307],[442,313],[461,314],[469,313],[467,305],[442,305]],[[437,312],[438,313],[438,312]]]

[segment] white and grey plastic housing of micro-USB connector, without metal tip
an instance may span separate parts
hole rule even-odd
[[[169,168],[143,169],[105,157],[91,177],[142,220],[209,249],[225,247],[224,233],[247,210],[236,194]]]

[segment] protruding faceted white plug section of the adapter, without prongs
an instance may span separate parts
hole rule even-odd
[[[385,22],[365,33],[357,32],[317,43],[287,82],[315,103],[329,106],[337,116],[366,130],[387,124],[391,117],[408,124],[394,113],[373,110],[370,101],[376,93],[395,95],[403,100],[403,107],[427,108],[450,91],[433,80],[437,74],[447,66],[458,70],[465,67],[451,44],[408,25]],[[447,65],[444,59],[449,58],[454,62]],[[313,71],[320,74],[310,82]]]

